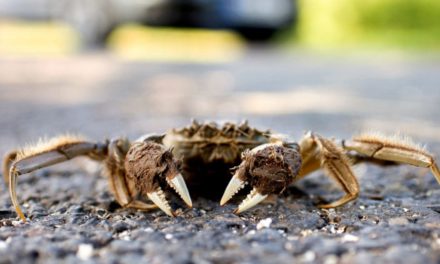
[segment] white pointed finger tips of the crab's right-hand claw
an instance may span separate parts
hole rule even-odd
[[[220,205],[224,205],[227,203],[239,190],[241,190],[247,182],[240,180],[237,175],[234,175],[229,182],[226,190],[223,194],[222,199],[220,200]],[[241,202],[238,208],[234,211],[235,214],[239,214],[248,210],[249,208],[254,207],[259,204],[261,201],[267,198],[267,194],[261,194],[254,187],[252,191],[248,194],[248,196]]]

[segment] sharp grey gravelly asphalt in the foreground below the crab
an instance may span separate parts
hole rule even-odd
[[[102,177],[42,170],[20,179],[29,222],[17,221],[2,191],[0,262],[438,263],[434,178],[397,167],[357,171],[362,195],[338,209],[315,207],[340,195],[318,173],[240,216],[234,204],[198,198],[193,209],[174,203],[179,216],[170,218],[120,208]]]

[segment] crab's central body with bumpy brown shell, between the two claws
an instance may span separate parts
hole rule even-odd
[[[241,124],[199,124],[169,131],[162,143],[182,160],[182,174],[191,194],[217,199],[231,179],[231,169],[246,150],[273,140],[270,131]]]

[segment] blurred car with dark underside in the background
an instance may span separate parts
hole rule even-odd
[[[72,25],[85,45],[102,44],[122,23],[232,29],[264,41],[296,20],[292,0],[0,0],[0,18]]]

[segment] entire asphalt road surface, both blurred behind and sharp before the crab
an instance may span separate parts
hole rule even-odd
[[[199,120],[248,119],[299,139],[402,132],[440,153],[440,60],[251,50],[223,64],[121,61],[106,54],[0,59],[0,151],[74,132],[135,139]],[[198,198],[178,217],[119,208],[84,159],[19,178],[30,219],[0,187],[0,263],[438,263],[440,187],[426,169],[355,168],[358,200],[318,172],[240,216]],[[180,208],[180,209],[179,209]]]

